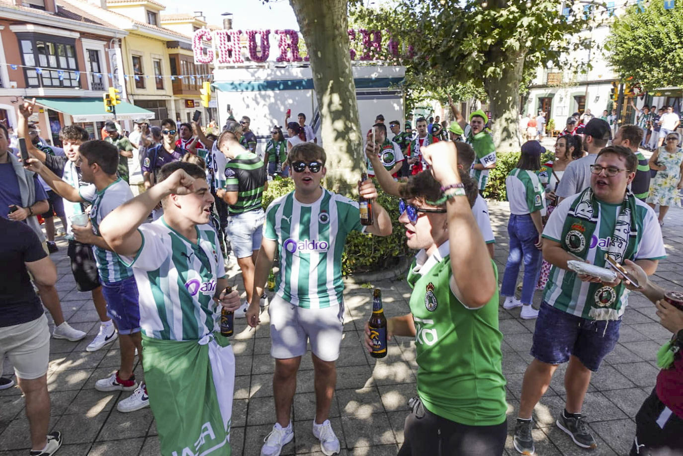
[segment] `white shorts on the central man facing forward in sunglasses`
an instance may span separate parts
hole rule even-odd
[[[270,356],[288,359],[303,356],[307,342],[323,361],[339,358],[344,332],[344,304],[324,309],[303,309],[275,296],[268,306]]]

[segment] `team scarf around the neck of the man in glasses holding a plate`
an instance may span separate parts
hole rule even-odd
[[[636,198],[630,190],[624,196],[624,203],[610,237],[608,254],[619,264],[624,259],[632,259],[640,238],[636,223]],[[600,205],[588,187],[572,203],[562,227],[561,246],[581,259],[586,259],[593,233],[598,226]],[[574,274],[567,272],[567,274]],[[609,287],[602,283],[591,283],[588,288],[586,304],[590,307],[589,316],[596,320],[614,320],[619,318],[619,297],[626,287],[619,283]]]

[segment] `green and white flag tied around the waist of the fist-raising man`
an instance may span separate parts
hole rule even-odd
[[[227,337],[142,336],[143,369],[163,456],[230,455],[235,356]]]

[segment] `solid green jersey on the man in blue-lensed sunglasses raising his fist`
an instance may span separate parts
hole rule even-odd
[[[491,267],[497,274],[496,266]],[[454,294],[449,242],[408,270],[415,322],[417,393],[427,410],[469,426],[505,421],[505,377],[498,327],[498,291],[484,307],[469,309]],[[451,285],[452,284],[452,285]]]

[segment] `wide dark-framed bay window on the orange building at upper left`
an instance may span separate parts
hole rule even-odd
[[[17,33],[28,87],[80,87],[74,40]]]

